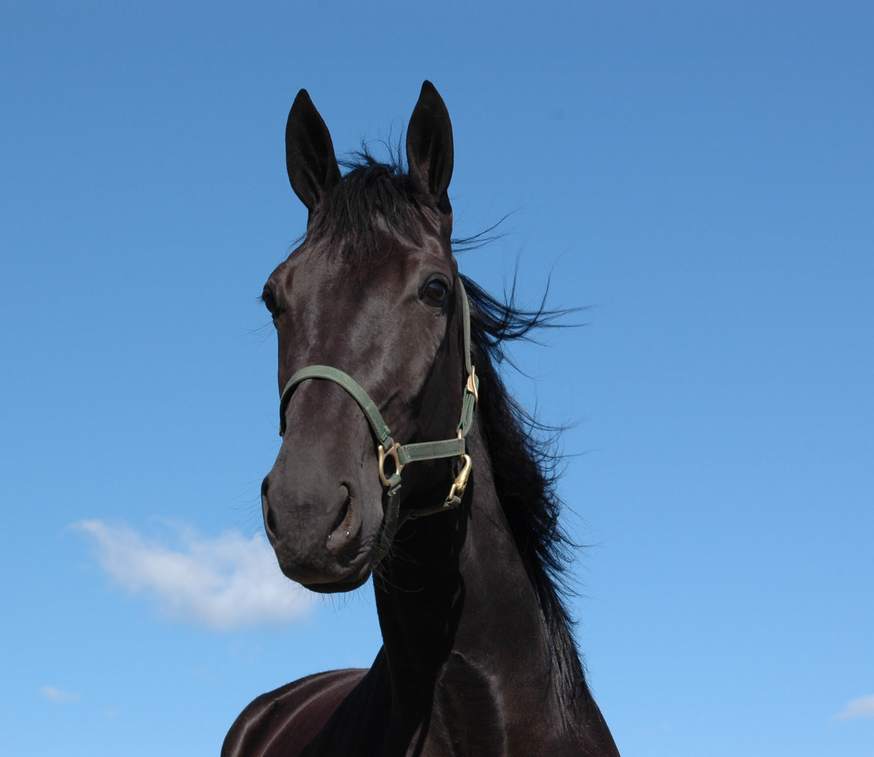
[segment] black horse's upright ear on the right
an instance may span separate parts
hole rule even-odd
[[[434,85],[425,81],[406,128],[406,162],[416,189],[434,197],[444,212],[451,212],[446,190],[453,160],[449,112]]]

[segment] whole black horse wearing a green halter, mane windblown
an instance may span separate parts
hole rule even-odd
[[[364,151],[342,174],[306,90],[288,114],[309,216],[262,294],[282,437],[264,526],[282,573],[312,591],[373,575],[383,646],[369,670],[254,699],[222,757],[619,755],[565,607],[555,458],[498,371],[545,310],[458,272],[453,162],[428,81],[406,171]]]

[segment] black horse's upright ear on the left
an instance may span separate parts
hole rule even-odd
[[[305,89],[297,93],[288,113],[285,164],[291,188],[310,216],[325,193],[342,180],[328,127]]]

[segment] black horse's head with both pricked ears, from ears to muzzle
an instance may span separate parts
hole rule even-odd
[[[316,591],[363,584],[391,538],[386,485],[399,486],[399,459],[380,447],[365,400],[399,444],[458,436],[467,301],[450,244],[452,127],[430,82],[406,158],[406,174],[365,159],[341,175],[308,93],[295,98],[286,162],[309,219],[262,295],[279,341],[282,444],[261,502],[282,572]],[[312,366],[332,373],[301,379]],[[439,507],[453,464],[444,455],[410,465],[405,510]]]

